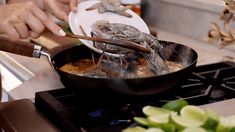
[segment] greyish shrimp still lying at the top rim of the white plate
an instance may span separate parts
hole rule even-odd
[[[98,9],[99,13],[104,12],[113,12],[122,16],[132,17],[131,14],[125,12],[127,9],[130,9],[131,6],[121,6],[120,0],[100,0],[99,3],[88,7],[86,10]]]

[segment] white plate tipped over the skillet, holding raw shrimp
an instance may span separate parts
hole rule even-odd
[[[69,26],[74,34],[84,35],[79,27],[81,26],[84,29],[84,32],[86,33],[86,35],[91,36],[90,34],[91,25],[99,20],[106,20],[106,21],[109,21],[110,23],[122,23],[122,24],[132,25],[133,27],[139,29],[142,32],[150,33],[148,26],[145,24],[145,22],[132,10],[126,11],[127,13],[132,15],[132,18],[121,16],[112,12],[105,12],[103,14],[100,14],[98,13],[98,9],[86,11],[88,7],[98,2],[100,1],[92,0],[92,1],[82,2],[78,4],[76,13],[70,12]],[[82,40],[82,39],[80,41],[84,43],[87,47],[89,47],[90,49],[98,53],[102,53],[101,50],[93,47],[93,42]],[[110,55],[114,55],[114,54],[110,54]]]

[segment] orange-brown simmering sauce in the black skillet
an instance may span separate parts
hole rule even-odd
[[[118,68],[113,68],[109,67],[109,65],[99,65],[98,66],[98,61],[99,58],[95,58],[94,61],[92,59],[80,59],[74,62],[67,63],[63,65],[60,70],[64,72],[68,72],[71,74],[75,75],[81,75],[81,76],[102,76],[102,77],[107,77],[107,78],[118,78],[119,69]],[[170,72],[178,71],[183,68],[183,66],[179,63],[175,63],[172,61],[165,61],[167,64]],[[154,76],[149,71],[149,67],[147,66],[147,61],[144,60],[144,58],[139,59],[138,64],[135,65],[136,67],[136,72],[128,76],[127,78],[138,78],[138,77],[151,77]],[[107,66],[107,67],[105,67]]]

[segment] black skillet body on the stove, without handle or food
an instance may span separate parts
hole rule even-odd
[[[160,53],[162,57],[184,64],[186,67],[164,75],[135,79],[85,77],[60,70],[68,62],[77,61],[81,58],[91,58],[91,50],[84,45],[55,54],[52,57],[52,64],[60,75],[61,82],[65,87],[73,88],[77,92],[95,92],[111,89],[126,95],[158,94],[180,85],[187,74],[191,73],[196,66],[198,58],[196,51],[187,46],[166,41],[160,41],[160,43],[163,44],[165,49]]]

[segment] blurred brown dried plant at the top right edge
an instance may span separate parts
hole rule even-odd
[[[220,20],[224,22],[224,29],[221,29],[216,22],[211,22],[211,29],[208,32],[208,41],[220,41],[220,47],[235,44],[235,32],[231,28],[231,22],[235,21],[235,1],[223,0],[225,9],[221,13]]]

